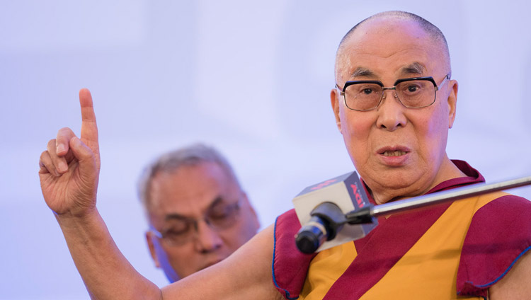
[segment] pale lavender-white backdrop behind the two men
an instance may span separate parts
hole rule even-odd
[[[57,129],[79,133],[80,88],[100,129],[98,208],[132,265],[163,286],[144,243],[142,167],[212,144],[263,227],[307,185],[353,171],[329,104],[333,58],[380,11],[418,13],[447,37],[459,81],[450,158],[487,182],[530,175],[529,4],[396,2],[0,0],[0,299],[89,299],[38,180]]]

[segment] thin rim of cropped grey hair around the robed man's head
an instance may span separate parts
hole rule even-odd
[[[367,23],[368,21],[374,21],[374,20],[406,20],[406,21],[412,21],[416,25],[418,25],[421,29],[424,30],[428,34],[428,36],[431,37],[431,39],[438,43],[440,45],[440,50],[443,54],[443,59],[445,60],[445,64],[447,66],[448,72],[451,73],[451,67],[450,67],[450,50],[448,50],[448,44],[446,42],[445,35],[442,34],[440,29],[427,21],[425,18],[422,18],[421,16],[417,16],[414,13],[408,13],[406,11],[384,11],[383,13],[377,13],[373,16],[370,16],[366,18],[365,20],[361,21],[360,23],[356,24],[353,28],[350,28],[348,30],[348,33],[341,39],[341,42],[339,42],[338,50],[336,52],[336,80],[338,79],[338,64],[343,63],[343,52],[346,45],[346,41],[349,40],[349,38],[353,35],[355,30],[360,28],[363,24]],[[361,70],[360,70],[361,71]],[[355,71],[354,73],[357,73]]]

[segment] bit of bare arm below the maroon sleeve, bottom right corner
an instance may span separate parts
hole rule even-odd
[[[531,254],[527,252],[499,282],[489,288],[489,300],[525,300],[531,295]]]

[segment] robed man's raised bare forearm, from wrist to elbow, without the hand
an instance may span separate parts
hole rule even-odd
[[[161,292],[120,253],[97,209],[58,215],[74,263],[92,299],[161,299]]]

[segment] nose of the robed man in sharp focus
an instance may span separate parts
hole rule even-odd
[[[407,118],[404,115],[404,105],[396,98],[394,90],[384,91],[382,103],[377,108],[378,128],[394,131],[399,127],[406,126]]]

